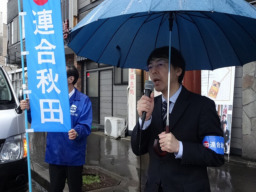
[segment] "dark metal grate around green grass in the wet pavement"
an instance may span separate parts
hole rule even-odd
[[[106,173],[103,173],[99,170],[96,170],[94,168],[88,168],[84,167],[83,169],[83,175],[88,175],[88,174],[97,174],[100,176],[100,182],[99,183],[91,183],[91,184],[83,184],[82,186],[82,191],[91,191],[94,189],[100,189],[100,188],[105,188],[105,187],[110,187],[110,186],[115,186],[118,185],[121,180],[113,178]]]

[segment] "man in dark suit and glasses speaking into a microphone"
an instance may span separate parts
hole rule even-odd
[[[214,101],[189,92],[181,85],[185,61],[172,47],[170,133],[165,133],[162,103],[168,93],[168,58],[168,46],[155,49],[148,58],[145,70],[149,71],[156,91],[162,95],[154,98],[154,93],[151,93],[150,98],[143,95],[138,101],[140,119],[132,131],[132,151],[135,155],[149,153],[147,192],[210,192],[207,166],[219,167],[225,161],[220,118]],[[141,130],[143,111],[147,114]],[[168,152],[166,156],[159,157],[154,152],[155,139],[159,139],[162,151]]]

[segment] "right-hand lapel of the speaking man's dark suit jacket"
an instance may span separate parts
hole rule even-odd
[[[172,113],[169,118],[170,131],[172,130],[173,126],[177,123],[177,121],[180,119],[185,109],[188,107],[189,105],[189,102],[187,101],[188,96],[189,96],[188,90],[182,85],[180,95],[178,96],[173,106]]]

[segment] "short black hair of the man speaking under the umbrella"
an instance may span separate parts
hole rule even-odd
[[[152,51],[148,57],[147,65],[149,65],[150,61],[157,58],[167,58],[169,59],[169,46],[164,46],[160,48],[156,48]],[[183,77],[185,75],[185,60],[182,57],[180,51],[171,47],[171,65],[173,68],[181,68],[182,72],[178,78],[179,83],[182,83]]]

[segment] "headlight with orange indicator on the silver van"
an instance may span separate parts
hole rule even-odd
[[[0,162],[22,159],[27,156],[26,133],[8,137],[0,153]]]

